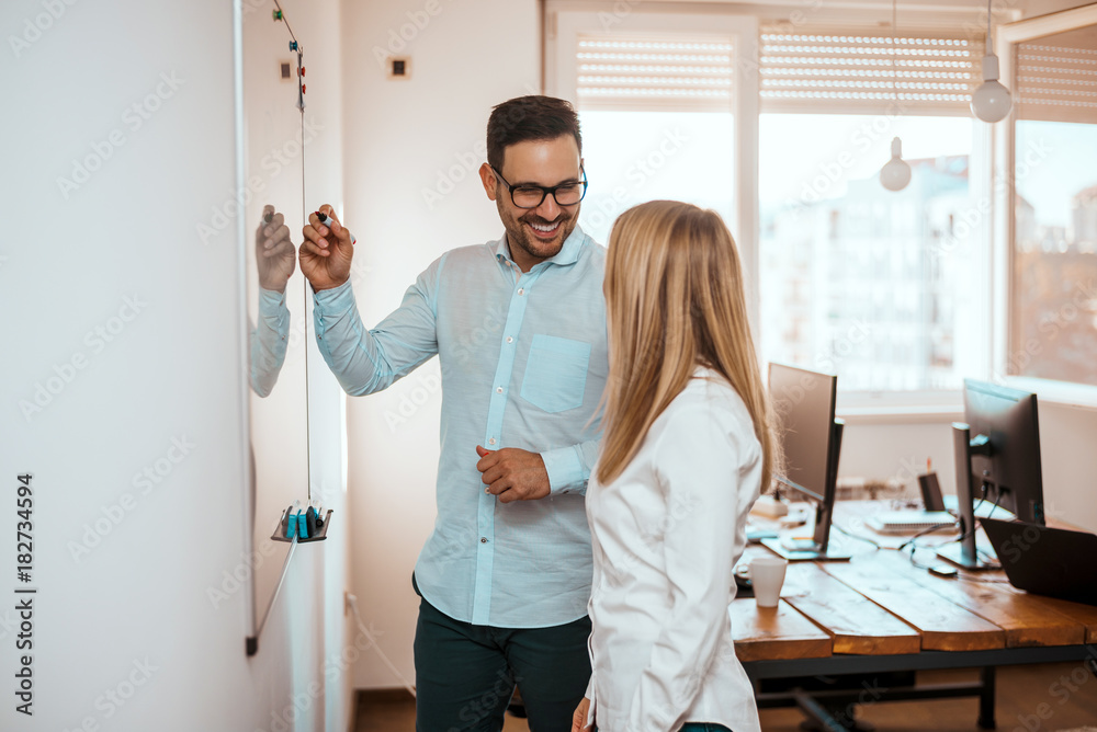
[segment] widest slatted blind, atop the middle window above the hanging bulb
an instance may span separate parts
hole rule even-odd
[[[761,111],[970,115],[982,55],[959,34],[762,28]]]

